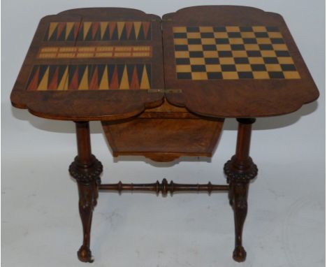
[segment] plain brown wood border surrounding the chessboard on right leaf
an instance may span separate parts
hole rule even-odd
[[[291,113],[319,96],[281,15],[245,6],[195,6],[163,15],[162,24],[166,89],[182,89],[166,94],[173,105],[213,117],[268,117]],[[300,78],[178,79],[173,27],[277,27]]]

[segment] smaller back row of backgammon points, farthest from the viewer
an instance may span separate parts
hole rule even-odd
[[[146,41],[151,22],[50,22],[43,41]]]

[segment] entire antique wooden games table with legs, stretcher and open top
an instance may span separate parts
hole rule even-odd
[[[233,259],[244,261],[242,228],[256,117],[298,110],[319,96],[283,18],[256,8],[198,6],[162,17],[128,8],[82,8],[43,17],[10,96],[13,106],[75,122],[83,243],[89,249],[98,191],[226,191],[235,216]],[[101,121],[113,156],[154,161],[211,157],[224,118],[238,120],[236,152],[224,166],[228,185],[102,185],[89,121]]]

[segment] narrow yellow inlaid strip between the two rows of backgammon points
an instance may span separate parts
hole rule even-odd
[[[44,47],[40,48],[37,57],[38,59],[152,57],[152,48],[151,46]]]

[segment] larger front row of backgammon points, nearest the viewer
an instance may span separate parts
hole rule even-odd
[[[36,65],[27,90],[150,89],[151,64]]]

